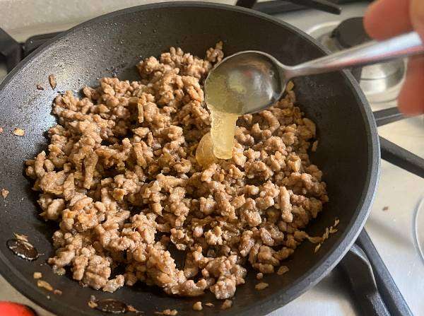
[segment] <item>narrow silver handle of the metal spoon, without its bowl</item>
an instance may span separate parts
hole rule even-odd
[[[342,50],[310,62],[288,67],[290,78],[322,74],[352,66],[377,64],[389,59],[424,53],[423,41],[416,32],[392,37],[382,42],[372,41]]]

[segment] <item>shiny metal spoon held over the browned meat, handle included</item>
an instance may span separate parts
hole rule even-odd
[[[237,100],[237,103],[243,105],[242,113],[239,112],[239,114],[254,113],[264,110],[279,100],[286,84],[292,78],[322,74],[352,66],[377,64],[389,59],[423,53],[424,45],[416,32],[399,35],[382,42],[367,42],[298,66],[281,64],[265,52],[254,50],[238,52],[223,59],[208,74],[205,82],[206,102],[208,105],[210,101],[213,102],[213,93],[216,94],[216,91],[225,91],[230,95],[229,100]],[[214,80],[216,78],[221,80]],[[212,87],[213,84],[220,86]]]

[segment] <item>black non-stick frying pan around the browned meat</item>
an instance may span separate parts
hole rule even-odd
[[[317,123],[319,149],[312,161],[324,172],[330,202],[307,229],[321,235],[340,218],[338,233],[326,240],[317,254],[314,245],[303,243],[286,263],[284,276],[265,277],[269,287],[254,289],[254,273],[237,288],[232,308],[220,311],[211,293],[202,301],[215,308],[194,312],[198,298],[173,298],[147,286],[121,288],[110,294],[81,288],[67,276],[56,276],[45,260],[53,253],[50,243],[55,228],[37,216],[35,193],[23,175],[23,161],[33,158],[47,144],[45,131],[54,124],[50,115],[57,91],[78,90],[94,85],[96,78],[110,76],[136,79],[134,65],[141,58],[158,55],[170,46],[201,57],[218,40],[225,54],[258,49],[299,64],[321,57],[324,49],[300,30],[264,14],[233,6],[204,3],[168,3],[138,6],[110,13],[78,25],[37,49],[0,86],[0,187],[10,194],[0,206],[0,272],[18,291],[57,315],[99,315],[88,307],[90,295],[117,298],[152,315],[154,311],[175,308],[179,315],[265,315],[307,291],[335,267],[360,232],[375,194],[379,172],[379,144],[370,107],[351,74],[337,72],[295,79],[298,103]],[[57,90],[48,86],[55,74]],[[37,90],[42,84],[45,90]],[[23,137],[13,136],[15,127],[25,129]],[[44,255],[35,262],[16,257],[6,247],[13,233],[24,233]],[[37,288],[33,272],[63,295],[50,295]]]

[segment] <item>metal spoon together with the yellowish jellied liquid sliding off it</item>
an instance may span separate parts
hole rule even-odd
[[[231,158],[237,117],[259,112],[276,103],[292,78],[423,53],[420,36],[411,32],[382,42],[367,42],[298,66],[285,66],[265,52],[251,50],[233,54],[212,69],[205,81],[213,143],[207,145],[213,146],[216,157]],[[208,151],[211,152],[211,148]]]

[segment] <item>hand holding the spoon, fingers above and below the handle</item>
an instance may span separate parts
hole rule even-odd
[[[376,40],[416,30],[424,41],[424,1],[377,0],[367,9],[364,25]],[[424,112],[424,57],[409,59],[398,103],[399,109],[407,115]]]

